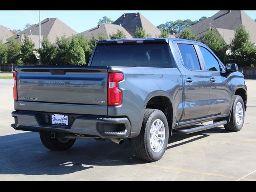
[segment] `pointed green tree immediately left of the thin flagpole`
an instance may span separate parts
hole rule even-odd
[[[24,39],[20,48],[21,51],[21,60],[24,64],[36,64],[37,59],[33,52],[35,44],[28,37],[24,35]]]

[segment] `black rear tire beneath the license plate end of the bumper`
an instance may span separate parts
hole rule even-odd
[[[76,139],[60,139],[60,138],[51,138],[51,132],[42,131],[40,132],[40,139],[42,144],[54,151],[64,151],[73,146]]]

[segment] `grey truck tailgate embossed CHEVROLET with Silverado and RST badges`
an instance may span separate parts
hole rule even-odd
[[[16,70],[18,102],[107,107],[107,67],[19,66]]]

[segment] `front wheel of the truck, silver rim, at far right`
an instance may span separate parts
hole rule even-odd
[[[241,96],[235,95],[230,122],[224,125],[227,131],[240,131],[244,124],[244,101]]]

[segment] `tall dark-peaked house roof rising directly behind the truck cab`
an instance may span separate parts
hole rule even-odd
[[[131,34],[131,36],[135,35],[136,26],[138,28],[143,28],[146,33],[150,34],[152,37],[158,37],[161,34],[161,31],[156,28],[156,26],[154,26],[149,20],[147,20],[142,14],[125,13],[124,15],[125,17],[120,16],[112,24],[122,24],[122,26]]]

